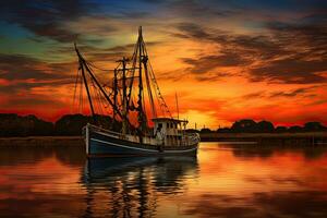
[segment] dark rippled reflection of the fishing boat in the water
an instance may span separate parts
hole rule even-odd
[[[183,194],[197,177],[196,157],[88,158],[85,216],[152,217],[159,198]]]

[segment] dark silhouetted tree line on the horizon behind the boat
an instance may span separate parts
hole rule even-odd
[[[82,135],[82,129],[87,123],[97,123],[105,129],[114,131],[121,130],[121,123],[114,121],[109,116],[65,114],[56,122],[48,122],[36,116],[19,116],[15,113],[0,113],[0,137],[13,136],[51,136],[51,135]],[[195,132],[195,130],[189,130]],[[298,133],[298,132],[319,132],[327,131],[327,128],[319,122],[307,122],[303,126],[274,126],[269,121],[255,122],[251,119],[235,121],[231,128],[218,130],[202,129],[201,133]],[[198,132],[198,131],[197,131]]]

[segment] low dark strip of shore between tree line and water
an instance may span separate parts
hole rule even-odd
[[[305,133],[201,133],[202,142],[244,142],[268,145],[327,145],[327,132]],[[83,136],[0,137],[0,146],[85,146]]]

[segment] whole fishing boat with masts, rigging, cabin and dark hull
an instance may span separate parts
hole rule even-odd
[[[117,68],[108,70],[112,74],[110,87],[99,82],[94,72],[98,68],[82,56],[76,45],[75,51],[77,75],[94,118],[83,129],[87,156],[196,155],[199,135],[186,132],[187,120],[171,116],[149,62],[142,27],[133,55],[118,60]],[[111,128],[97,122],[90,89],[110,107]]]

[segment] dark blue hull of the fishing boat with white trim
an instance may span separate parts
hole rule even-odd
[[[147,145],[114,137],[86,126],[87,156],[196,155],[198,143],[189,146]]]

